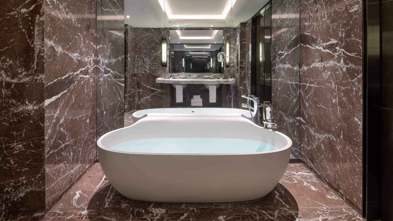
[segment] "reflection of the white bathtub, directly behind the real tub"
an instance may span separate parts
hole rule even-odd
[[[152,108],[135,111],[132,119],[137,122],[145,116],[241,116],[251,117],[246,109],[236,108]]]

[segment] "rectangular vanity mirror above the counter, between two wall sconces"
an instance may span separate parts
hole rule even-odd
[[[222,73],[217,56],[223,50],[219,29],[169,30],[171,73]]]

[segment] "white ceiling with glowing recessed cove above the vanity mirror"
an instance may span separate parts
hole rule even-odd
[[[267,2],[268,0],[125,0],[125,24],[132,27],[236,27],[255,15]]]

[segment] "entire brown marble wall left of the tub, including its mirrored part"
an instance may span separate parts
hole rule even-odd
[[[98,30],[97,3],[2,5],[0,217],[48,210],[97,159],[96,135],[123,127],[124,3],[99,4],[119,19]]]

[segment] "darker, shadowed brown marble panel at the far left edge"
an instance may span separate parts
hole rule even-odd
[[[43,4],[0,7],[0,219],[45,209]]]

